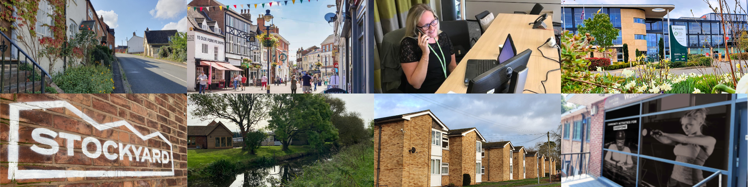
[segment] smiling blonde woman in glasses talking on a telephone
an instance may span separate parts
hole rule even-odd
[[[452,42],[439,30],[439,19],[426,4],[416,4],[405,19],[400,65],[410,86],[406,93],[435,93],[457,67]]]

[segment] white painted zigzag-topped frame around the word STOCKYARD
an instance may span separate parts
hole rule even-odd
[[[33,110],[46,108],[67,108],[73,111],[74,114],[81,117],[82,120],[90,123],[93,127],[99,130],[111,129],[117,126],[126,126],[135,135],[138,135],[144,141],[156,136],[161,137],[166,144],[169,144],[170,158],[171,159],[171,171],[67,171],[67,170],[19,170],[18,169],[18,129],[19,129],[19,114],[22,110]],[[16,180],[20,179],[49,179],[49,178],[67,178],[67,177],[148,177],[148,176],[174,176],[174,147],[168,138],[164,137],[161,132],[153,132],[150,135],[142,135],[138,132],[135,127],[130,125],[124,120],[115,121],[112,123],[96,123],[91,117],[83,114],[78,108],[70,105],[66,101],[43,101],[43,102],[16,102],[8,104],[8,111],[10,115],[10,129],[8,130],[8,138],[10,144],[7,148],[7,179]]]

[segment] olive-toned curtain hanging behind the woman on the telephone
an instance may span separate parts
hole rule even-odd
[[[390,81],[385,81],[387,75],[382,74],[384,68],[393,68],[392,64],[396,64],[396,67],[399,68],[399,61],[388,63],[384,62],[387,58],[381,57],[380,49],[382,49],[381,43],[384,34],[399,28],[405,28],[405,17],[408,16],[408,10],[414,4],[421,3],[429,4],[429,0],[374,1],[374,39],[376,40],[374,49],[374,88],[376,93],[383,93],[399,85],[399,79],[396,85],[388,84]],[[432,9],[436,8],[432,7]],[[386,64],[390,64],[390,66]]]

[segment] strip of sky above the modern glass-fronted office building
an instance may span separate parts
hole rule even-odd
[[[705,1],[712,4],[712,7],[720,6],[715,0],[565,0],[562,4],[673,4],[675,5],[675,9],[670,13],[670,19],[677,19],[678,17],[699,17],[706,13],[714,13]],[[729,9],[732,13],[732,10],[735,9],[735,0],[726,1],[730,7],[725,7],[725,10]],[[741,0],[738,3],[746,7],[748,2]],[[740,7],[738,7],[738,11],[745,13],[745,10],[739,9]],[[667,16],[665,17],[667,18]]]

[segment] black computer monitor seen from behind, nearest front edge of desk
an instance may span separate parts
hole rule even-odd
[[[509,80],[512,79],[512,73],[517,68],[527,67],[527,61],[530,61],[530,54],[532,53],[533,50],[526,49],[524,52],[509,58],[503,64],[499,64],[491,70],[470,79],[467,93],[505,93],[509,89]],[[519,81],[524,82],[524,80]]]

